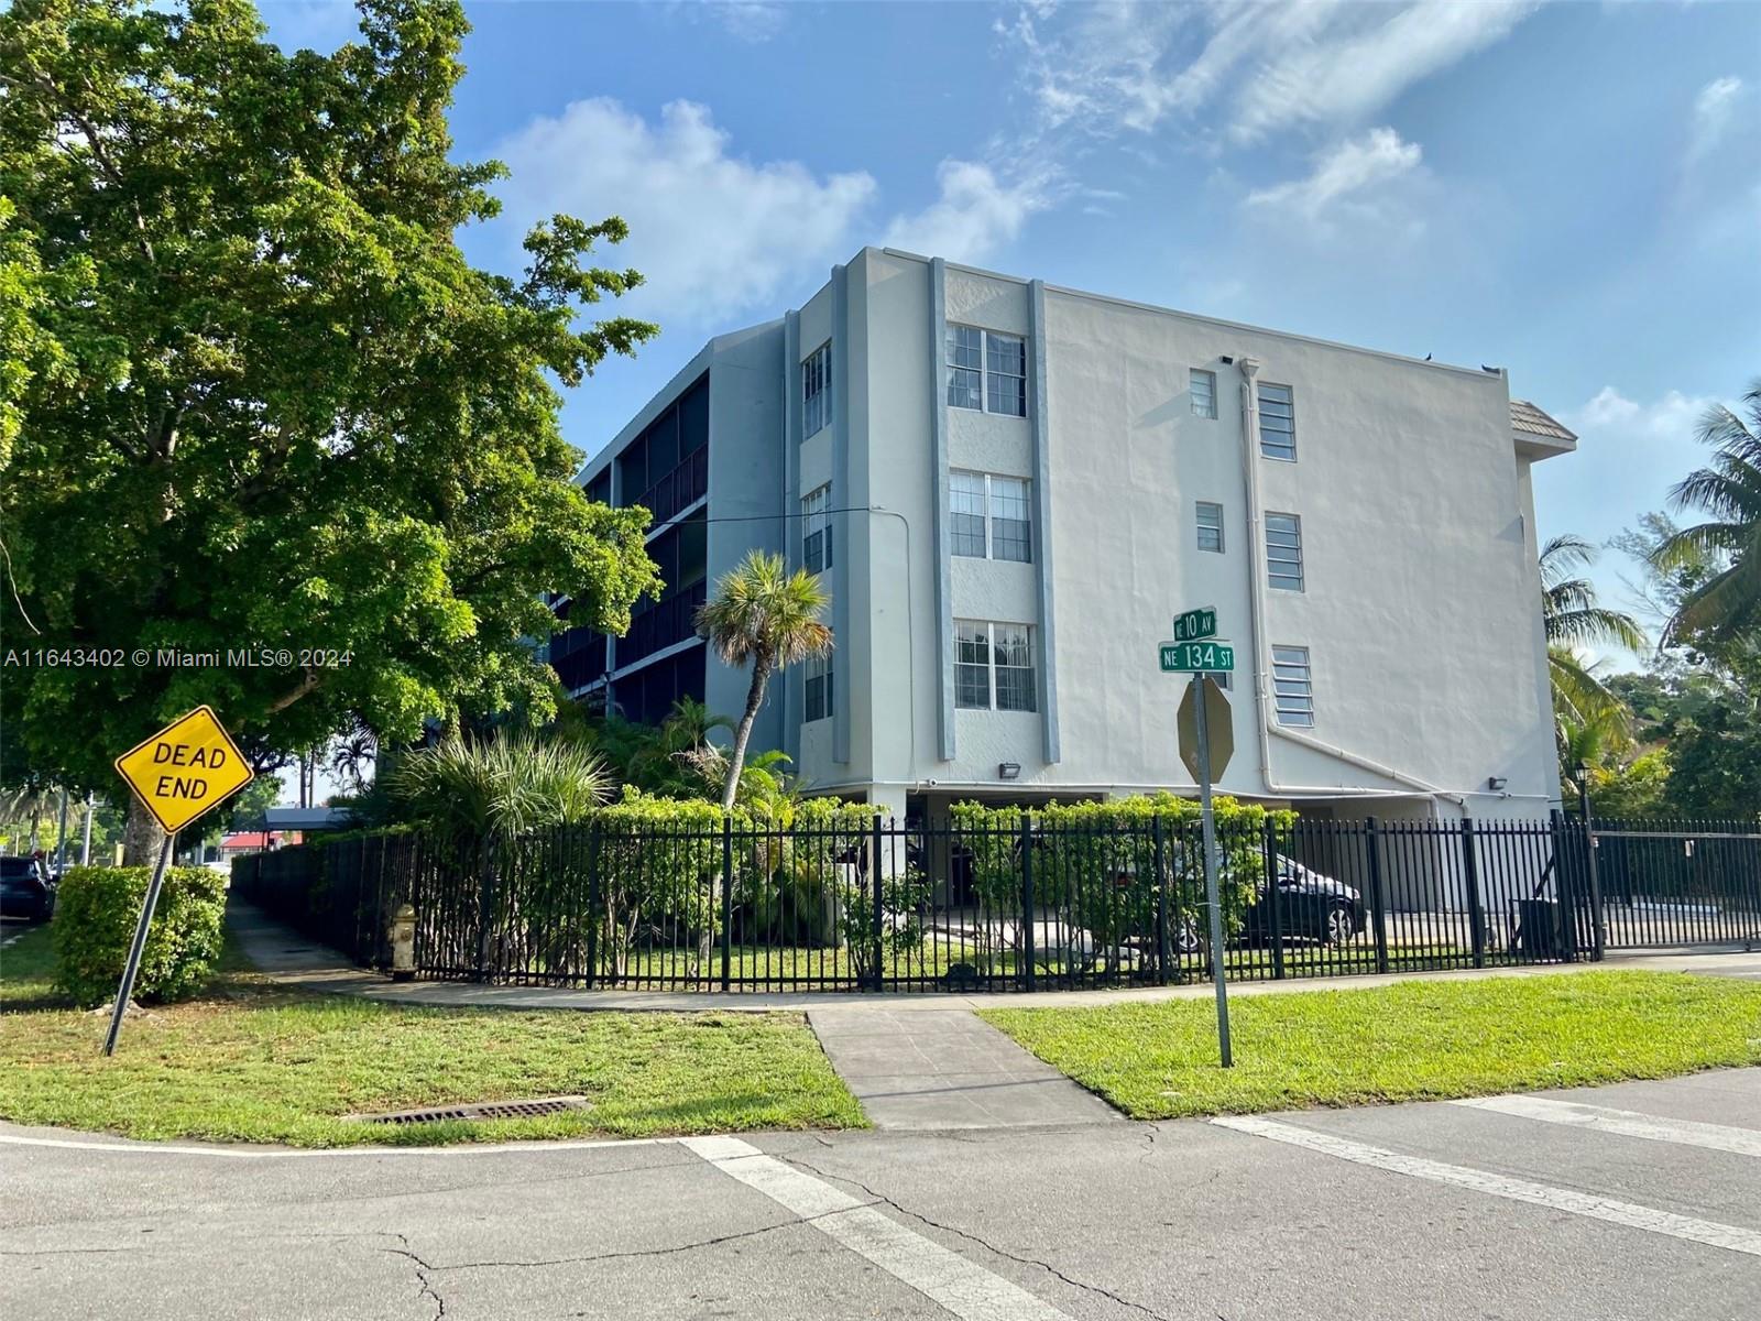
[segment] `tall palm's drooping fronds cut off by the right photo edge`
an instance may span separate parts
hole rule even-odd
[[[1699,439],[1713,458],[1691,472],[1669,498],[1676,509],[1708,514],[1680,528],[1654,553],[1661,569],[1719,565],[1692,587],[1664,631],[1669,643],[1722,648],[1761,631],[1761,377],[1743,395],[1743,421],[1724,405],[1706,409]]]

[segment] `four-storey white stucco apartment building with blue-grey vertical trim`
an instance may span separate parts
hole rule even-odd
[[[1448,366],[865,248],[711,340],[583,470],[667,597],[572,631],[586,701],[741,708],[690,613],[748,548],[824,574],[829,666],[754,747],[898,815],[1190,791],[1173,616],[1236,645],[1220,787],[1308,815],[1558,800],[1530,465],[1574,437]],[[1374,800],[1374,805],[1365,801]]]

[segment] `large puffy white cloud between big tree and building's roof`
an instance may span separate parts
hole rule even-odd
[[[689,100],[662,107],[659,123],[606,97],[578,100],[493,155],[509,166],[500,192],[519,234],[556,211],[622,215],[629,241],[599,259],[648,277],[622,305],[697,326],[773,308],[794,282],[849,255],[875,197],[863,171],[733,155],[710,111]]]

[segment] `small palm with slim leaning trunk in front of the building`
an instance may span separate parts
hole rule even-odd
[[[733,808],[740,793],[747,742],[771,673],[831,652],[831,629],[821,620],[828,604],[831,595],[805,569],[791,574],[782,555],[750,551],[715,585],[715,599],[697,611],[697,632],[722,660],[752,664],[747,710],[734,727],[734,749],[727,757],[722,810]]]

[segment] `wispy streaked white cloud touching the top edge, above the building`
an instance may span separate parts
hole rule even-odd
[[[1023,11],[1023,51],[1048,127],[1148,132],[1175,113],[1215,113],[1222,137],[1252,143],[1293,127],[1354,127],[1402,92],[1502,41],[1536,0],[1402,5],[1254,0],[1083,7],[1072,21]]]

